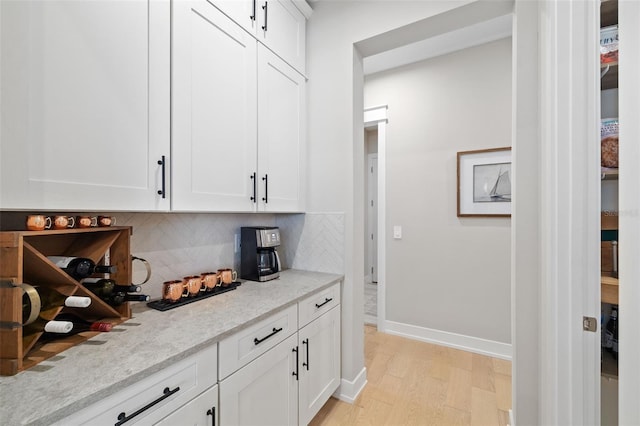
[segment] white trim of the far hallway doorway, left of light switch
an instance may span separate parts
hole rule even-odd
[[[387,237],[386,228],[386,149],[387,105],[364,109],[364,127],[378,127],[378,331],[386,331]]]

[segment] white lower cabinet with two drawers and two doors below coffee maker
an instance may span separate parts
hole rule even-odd
[[[286,325],[275,323],[278,317],[283,318],[281,322],[289,318],[291,326],[293,321],[285,312],[292,308],[298,310],[297,324],[303,325],[300,329],[296,326],[293,334]],[[255,330],[241,331],[220,342],[220,424],[308,424],[340,385],[340,284],[252,328]],[[280,329],[283,331],[278,333],[289,330],[291,335],[259,356],[236,351],[247,353],[239,357],[227,349],[241,347],[241,342],[248,340],[258,347],[264,339],[259,336]],[[239,359],[244,364],[239,365]]]

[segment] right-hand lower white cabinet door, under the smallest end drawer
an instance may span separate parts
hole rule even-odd
[[[300,424],[309,424],[340,385],[340,306],[299,332]]]

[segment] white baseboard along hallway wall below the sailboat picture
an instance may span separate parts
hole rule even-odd
[[[385,321],[384,329],[385,332],[389,334],[395,334],[409,339],[448,346],[450,348],[461,349],[463,351],[474,352],[481,355],[511,361],[512,350],[511,345],[508,343],[480,339],[478,337],[449,333],[447,331],[418,327],[394,321]]]

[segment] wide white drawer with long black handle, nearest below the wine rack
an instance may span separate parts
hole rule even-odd
[[[216,384],[217,353],[214,344],[56,424],[114,425],[121,413],[131,418],[126,426],[153,424]]]

